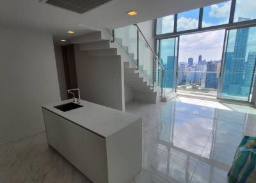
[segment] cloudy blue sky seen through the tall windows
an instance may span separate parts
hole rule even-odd
[[[225,24],[229,20],[231,1],[213,4],[204,7],[203,27]],[[256,18],[256,0],[237,0],[234,21],[238,17]],[[198,28],[199,9],[190,10],[178,14],[177,30]],[[163,33],[173,31],[173,15],[163,17]],[[180,36],[179,61],[188,61],[192,57],[198,61],[198,55],[202,54],[203,60],[221,60],[225,30],[196,33],[193,35]],[[165,41],[162,45],[163,59],[170,55],[173,41]],[[173,55],[171,53],[171,55]]]

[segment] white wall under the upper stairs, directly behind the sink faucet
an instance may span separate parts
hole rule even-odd
[[[81,99],[124,111],[124,63],[120,56],[88,56],[75,45]]]

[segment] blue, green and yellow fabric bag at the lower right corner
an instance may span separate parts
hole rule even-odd
[[[256,137],[244,136],[228,172],[230,183],[256,182]]]

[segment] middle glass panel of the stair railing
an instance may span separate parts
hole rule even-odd
[[[153,83],[154,54],[146,40],[139,33],[139,69],[147,76],[148,81]]]

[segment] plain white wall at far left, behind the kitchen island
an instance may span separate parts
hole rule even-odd
[[[44,129],[42,105],[60,100],[52,36],[0,28],[0,143]]]

